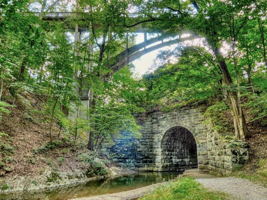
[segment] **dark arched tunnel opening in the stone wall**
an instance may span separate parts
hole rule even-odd
[[[197,144],[188,129],[180,126],[168,129],[160,149],[162,171],[197,168]]]

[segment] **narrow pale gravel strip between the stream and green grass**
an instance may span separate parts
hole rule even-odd
[[[146,187],[141,187],[125,192],[117,192],[113,194],[103,194],[96,196],[88,196],[76,198],[75,200],[127,200],[127,199],[136,199],[138,197],[144,196],[148,192],[152,192],[156,187],[160,186],[163,183],[156,183],[152,185],[148,185]],[[72,199],[74,200],[74,199]]]

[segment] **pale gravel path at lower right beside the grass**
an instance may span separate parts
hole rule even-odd
[[[231,194],[242,200],[267,200],[267,188],[245,179],[235,177],[199,178],[204,187]]]

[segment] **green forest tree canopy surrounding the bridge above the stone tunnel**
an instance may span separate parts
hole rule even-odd
[[[90,150],[120,134],[137,143],[138,116],[199,104],[210,107],[206,116],[218,131],[243,141],[248,122],[267,123],[264,0],[1,0],[0,11],[0,117],[10,120],[10,108],[22,104],[29,118],[38,113],[50,123],[51,144],[55,123],[58,135],[61,129],[74,135],[74,150],[83,133]],[[52,12],[75,14],[47,20]],[[141,78],[121,61],[135,47],[138,28],[162,43],[178,38]],[[193,39],[183,41],[185,33]]]

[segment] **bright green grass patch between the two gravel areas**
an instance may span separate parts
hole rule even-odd
[[[230,199],[228,194],[222,192],[209,191],[194,180],[194,178],[184,177],[176,181],[170,181],[168,184],[155,189],[152,194],[147,194],[140,198],[141,200],[226,200]]]

